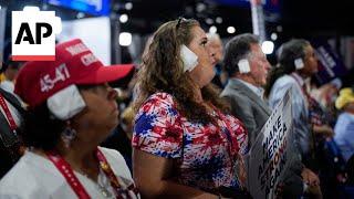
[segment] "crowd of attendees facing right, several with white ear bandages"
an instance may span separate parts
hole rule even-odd
[[[354,197],[354,87],[314,88],[304,39],[277,59],[254,34],[223,49],[179,18],[138,66],[104,66],[80,39],[55,61],[2,63],[0,198],[252,198],[250,149],[288,91],[295,153],[275,197]]]

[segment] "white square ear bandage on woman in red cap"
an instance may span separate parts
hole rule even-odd
[[[70,85],[55,93],[48,98],[46,105],[50,112],[62,121],[73,117],[86,106],[76,85]]]

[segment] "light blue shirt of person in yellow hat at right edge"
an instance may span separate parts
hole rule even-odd
[[[342,113],[334,127],[334,140],[347,161],[354,153],[354,115]]]

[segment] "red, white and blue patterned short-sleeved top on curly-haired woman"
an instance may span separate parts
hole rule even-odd
[[[155,93],[139,108],[133,147],[155,156],[176,159],[175,180],[217,192],[219,187],[239,188],[235,164],[248,151],[240,121],[218,109],[218,125],[188,122],[167,93]]]

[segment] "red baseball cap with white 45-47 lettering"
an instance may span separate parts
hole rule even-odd
[[[17,77],[14,93],[30,107],[35,107],[72,84],[117,81],[133,69],[133,64],[104,66],[80,39],[75,39],[55,46],[55,61],[27,62]]]

